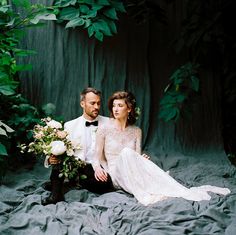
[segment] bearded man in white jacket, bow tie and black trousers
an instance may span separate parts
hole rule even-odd
[[[91,165],[95,158],[96,130],[99,125],[109,120],[109,118],[99,115],[101,92],[91,87],[84,89],[80,94],[80,105],[83,109],[82,116],[68,121],[64,125],[64,129],[69,133],[68,137],[70,140],[80,140],[81,149],[75,152],[75,158],[84,160],[87,163],[84,168],[80,169],[79,173],[86,175],[86,178],[80,179],[79,184],[82,188],[94,193],[102,194],[110,192],[113,190],[110,176],[107,175],[105,181],[97,181]],[[64,178],[59,178],[61,164],[56,156],[51,156],[48,162],[52,165],[50,176],[52,193],[50,197],[43,200],[43,205],[64,201]]]

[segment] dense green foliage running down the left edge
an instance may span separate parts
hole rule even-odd
[[[6,172],[6,156],[17,155],[17,143],[31,138],[26,130],[38,121],[37,109],[17,93],[17,73],[32,67],[18,64],[17,57],[35,54],[18,48],[23,29],[42,25],[41,20],[56,20],[54,7],[31,5],[29,0],[11,3],[0,1],[0,177]]]

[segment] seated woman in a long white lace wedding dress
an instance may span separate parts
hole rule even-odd
[[[135,97],[125,91],[115,92],[108,101],[112,118],[96,134],[95,177],[106,181],[109,174],[116,188],[121,188],[148,205],[169,197],[210,200],[207,192],[226,195],[227,188],[211,185],[186,188],[159,168],[147,155],[141,155],[141,129],[134,125]],[[103,167],[101,167],[101,165]]]

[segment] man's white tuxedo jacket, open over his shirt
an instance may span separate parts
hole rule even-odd
[[[98,126],[106,123],[109,118],[108,117],[104,117],[104,116],[98,116],[96,118],[96,120],[98,121]],[[75,140],[75,141],[79,141],[81,149],[77,150],[74,154],[75,158],[78,159],[80,158],[81,160],[85,160],[85,152],[86,152],[86,144],[85,144],[85,128],[87,128],[85,126],[85,119],[83,116],[80,116],[76,119],[73,119],[71,121],[68,121],[64,124],[64,129],[69,133],[69,139],[71,141]],[[91,136],[91,140],[92,140],[92,145],[90,147],[92,147],[95,153],[95,142],[96,142],[96,130],[98,127],[96,127],[95,131],[92,132],[92,136]],[[94,156],[96,157],[96,156]]]

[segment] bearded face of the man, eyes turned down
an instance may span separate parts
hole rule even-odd
[[[100,111],[101,98],[93,92],[89,92],[85,95],[80,105],[83,108],[84,117],[88,120],[94,120]]]

